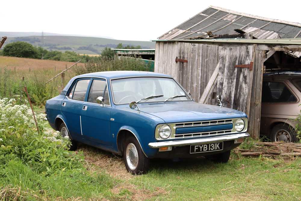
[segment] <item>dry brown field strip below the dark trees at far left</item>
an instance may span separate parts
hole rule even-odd
[[[40,70],[40,69],[65,69],[71,66],[75,62],[63,62],[63,61],[53,61],[53,60],[42,60],[42,59],[28,59],[19,58],[11,56],[0,56],[0,69],[7,68],[16,71],[19,70]],[[79,66],[84,66],[83,63],[78,63]]]

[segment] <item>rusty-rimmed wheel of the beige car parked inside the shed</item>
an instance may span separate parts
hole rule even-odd
[[[287,124],[277,124],[271,130],[270,135],[272,142],[284,141],[284,142],[297,142],[297,135],[295,129]]]

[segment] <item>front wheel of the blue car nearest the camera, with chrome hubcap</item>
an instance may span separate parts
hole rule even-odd
[[[128,146],[132,146],[132,148],[136,148],[137,151],[137,155],[138,155],[138,162],[137,165],[133,165],[131,166],[130,164],[130,157],[127,159],[127,147]],[[134,147],[133,147],[134,146]],[[131,149],[132,150],[132,149]],[[129,151],[130,152],[130,151]],[[133,151],[131,153],[134,153]],[[136,156],[136,155],[135,155]],[[145,174],[149,168],[149,164],[150,164],[150,159],[147,158],[141,147],[139,142],[137,141],[137,139],[134,136],[129,136],[123,144],[123,160],[124,160],[124,164],[126,166],[126,170],[132,174]],[[131,168],[129,167],[131,166]]]

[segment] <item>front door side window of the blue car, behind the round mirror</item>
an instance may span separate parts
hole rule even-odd
[[[96,103],[96,99],[100,96],[104,97],[105,105],[110,105],[107,82],[104,80],[93,80],[88,96],[88,102]]]

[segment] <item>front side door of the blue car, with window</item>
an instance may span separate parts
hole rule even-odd
[[[104,105],[96,99],[104,98]],[[110,136],[110,99],[105,79],[93,78],[89,87],[87,101],[82,104],[82,134],[85,139],[103,145],[112,145]]]

